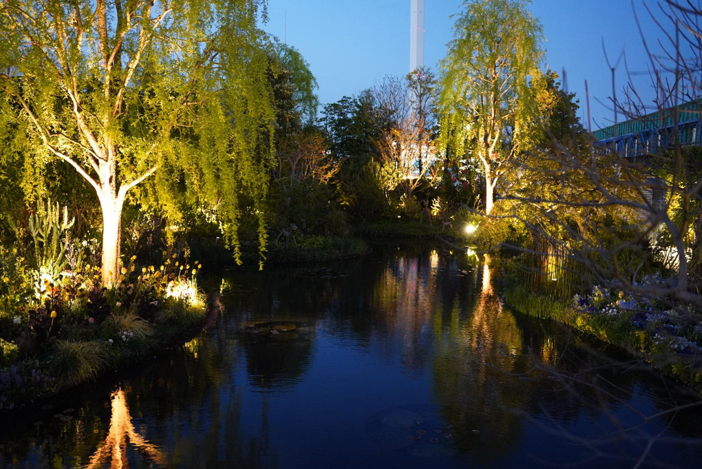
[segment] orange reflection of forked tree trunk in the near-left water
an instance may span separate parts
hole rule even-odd
[[[128,443],[127,443],[128,439]],[[127,446],[133,445],[148,456],[157,465],[166,465],[166,457],[154,444],[147,442],[134,429],[129,414],[124,390],[119,388],[112,393],[112,416],[110,416],[110,430],[105,441],[98,447],[95,454],[88,462],[88,469],[100,468],[110,462],[110,468],[128,468]]]

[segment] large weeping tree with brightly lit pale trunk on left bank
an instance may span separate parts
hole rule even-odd
[[[216,208],[237,261],[253,201],[263,254],[274,112],[261,15],[265,0],[0,0],[0,105],[14,118],[0,128],[24,136],[0,141],[23,145],[26,187],[55,159],[93,187],[103,284],[117,282],[125,198],[145,180],[154,190],[130,194],[172,220],[174,188]]]

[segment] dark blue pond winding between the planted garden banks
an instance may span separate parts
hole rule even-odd
[[[489,261],[384,245],[215,283],[185,347],[4,416],[0,467],[700,467],[699,399],[510,311]]]

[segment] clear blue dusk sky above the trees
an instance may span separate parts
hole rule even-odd
[[[533,0],[532,13],[545,35],[544,66],[562,74],[567,89],[581,102],[580,117],[587,127],[585,80],[588,81],[592,130],[614,120],[609,105],[611,72],[604,48],[613,63],[626,53],[637,89],[653,100],[648,58],[633,15],[637,9],[647,41],[661,36],[644,0]],[[437,72],[453,37],[451,15],[461,0],[425,0],[425,65]],[[661,17],[654,1],[652,11]],[[319,83],[319,101],[333,103],[344,95],[369,88],[386,75],[409,72],[410,0],[269,0],[264,29],[303,54]],[[616,92],[628,81],[624,61],[616,70]],[[621,117],[619,118],[621,120]]]

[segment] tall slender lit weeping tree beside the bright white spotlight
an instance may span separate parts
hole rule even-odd
[[[543,58],[541,24],[529,0],[465,1],[442,62],[442,140],[482,164],[485,213],[524,138]]]

